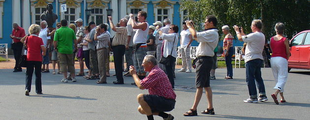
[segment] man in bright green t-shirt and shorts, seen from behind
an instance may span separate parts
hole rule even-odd
[[[59,63],[63,74],[62,82],[68,82],[67,72],[71,73],[72,82],[76,82],[75,68],[72,63],[73,50],[77,49],[77,41],[74,31],[67,27],[67,20],[61,21],[62,27],[57,29],[54,35],[54,47],[59,54]],[[74,49],[72,48],[74,43]]]

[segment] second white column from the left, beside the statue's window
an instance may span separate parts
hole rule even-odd
[[[23,28],[28,29],[30,27],[30,1],[23,0]],[[28,30],[25,30],[26,35],[29,33]]]

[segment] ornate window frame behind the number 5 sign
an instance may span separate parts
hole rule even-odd
[[[59,8],[61,8],[62,4],[67,4],[67,10],[70,8],[75,8],[74,20],[77,20],[82,15],[82,13],[81,13],[81,2],[82,2],[82,0],[59,0]],[[60,15],[60,20],[63,20],[64,15],[71,15],[71,14],[62,15],[62,12],[59,11],[59,15]]]

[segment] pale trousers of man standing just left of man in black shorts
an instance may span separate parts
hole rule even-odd
[[[190,47],[180,49],[182,56],[182,69],[191,71]]]

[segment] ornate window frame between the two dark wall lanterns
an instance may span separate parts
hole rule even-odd
[[[88,22],[91,22],[92,17],[94,17],[94,21],[95,21],[95,19],[96,19],[95,17],[97,15],[100,15],[100,16],[102,16],[102,23],[107,23],[107,21],[108,21],[107,17],[108,16],[107,16],[106,9],[109,8],[108,3],[110,2],[110,0],[87,0],[86,2],[87,2],[87,8],[88,9],[96,9],[96,8],[102,9],[102,14],[100,14],[100,13],[99,14],[91,14]]]

